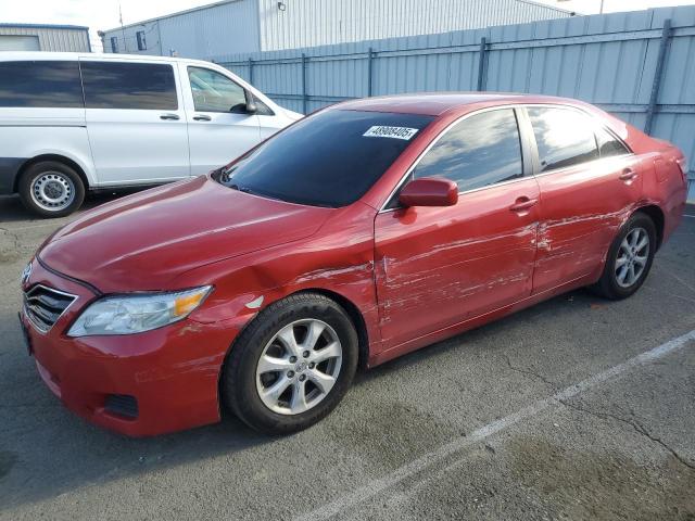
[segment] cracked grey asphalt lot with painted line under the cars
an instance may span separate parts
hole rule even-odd
[[[292,436],[227,417],[129,440],[65,410],[26,356],[18,276],[70,218],[0,198],[0,520],[695,520],[686,212],[627,301],[576,291],[361,373]]]

